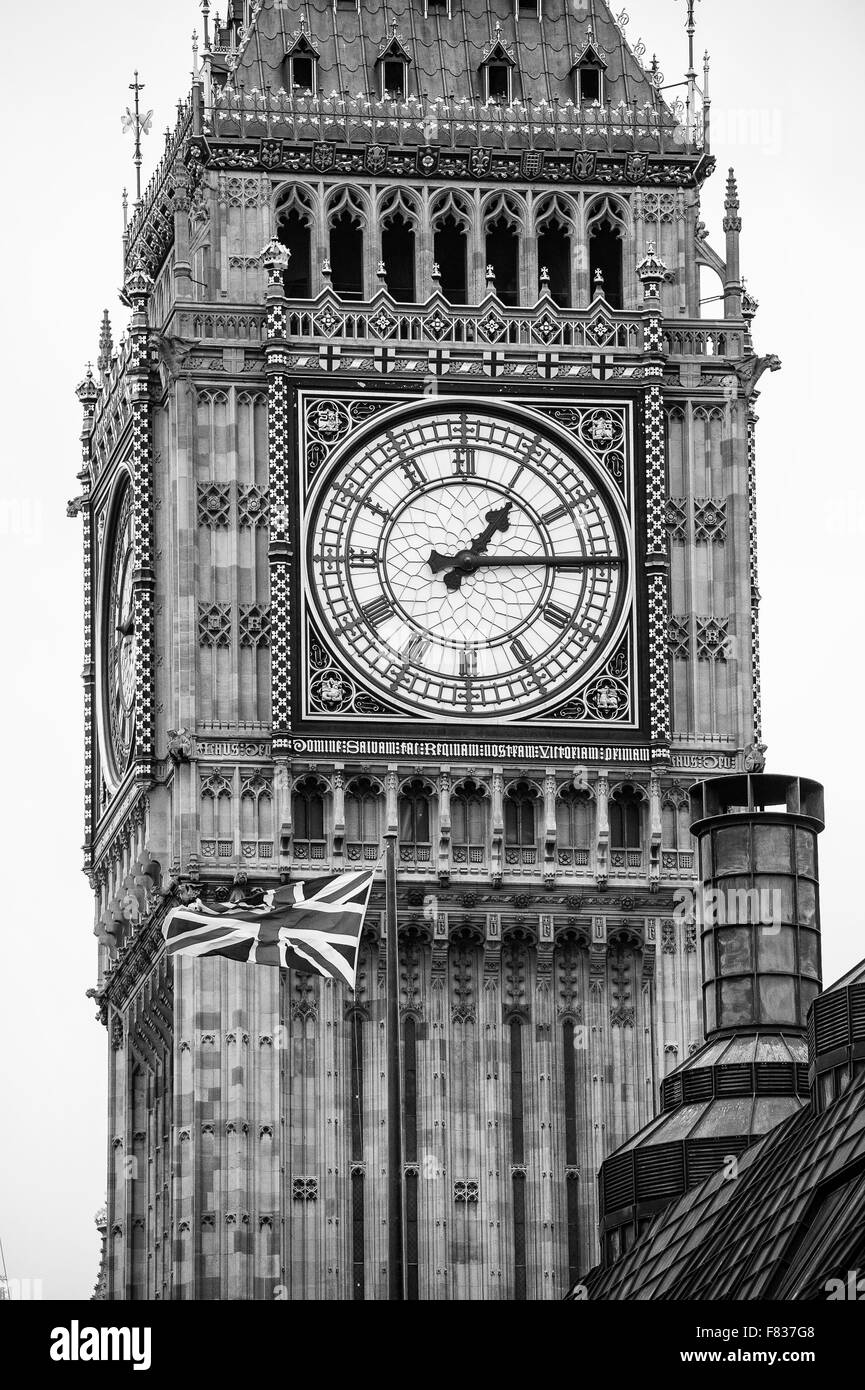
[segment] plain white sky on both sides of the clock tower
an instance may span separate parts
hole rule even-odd
[[[642,35],[668,81],[677,81],[687,54],[684,0],[627,0],[627,10],[631,40]],[[698,53],[712,53],[719,161],[704,217],[723,254],[723,186],[734,164],[743,271],[761,300],[757,346],[784,363],[763,378],[759,403],[765,737],[770,770],[826,785],[830,981],[865,954],[855,780],[861,306],[850,300],[864,250],[865,6],[825,0],[815,15],[804,0],[701,0],[698,10]],[[115,336],[122,327],[120,195],[134,172],[120,117],[132,70],[146,82],[145,108],[154,108],[147,175],[159,132],[174,125],[186,90],[193,28],[202,28],[193,0],[88,0],[86,15],[42,0],[18,6],[6,26],[0,727],[10,859],[0,929],[0,1238],[10,1276],[42,1279],[47,1298],[90,1294],[106,1169],[106,1034],[85,999],[96,945],[78,848],[81,521],[65,516],[67,499],[78,495],[74,388],[96,357],[103,307]]]

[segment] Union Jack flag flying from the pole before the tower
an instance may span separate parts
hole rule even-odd
[[[227,956],[343,980],[355,988],[374,869],[254,890],[242,902],[200,898],[163,924],[168,955]]]

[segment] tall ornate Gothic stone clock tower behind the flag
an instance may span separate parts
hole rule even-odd
[[[687,788],[762,766],[708,72],[604,0],[202,10],[78,392],[107,1295],[387,1297],[384,876],[355,994],[161,922],[395,834],[406,1297],[558,1298],[701,1038]]]

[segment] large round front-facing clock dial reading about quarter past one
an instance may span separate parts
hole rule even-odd
[[[560,702],[623,624],[624,524],[534,418],[427,410],[343,456],[307,525],[310,598],[367,689],[445,720]]]

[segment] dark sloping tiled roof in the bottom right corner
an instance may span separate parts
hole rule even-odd
[[[865,1079],[666,1207],[590,1298],[826,1298],[865,1261]]]

